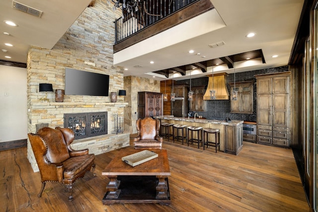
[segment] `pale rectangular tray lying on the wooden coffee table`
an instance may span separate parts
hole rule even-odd
[[[156,157],[158,157],[157,153],[153,151],[149,151],[149,150],[143,150],[143,151],[122,157],[121,160],[131,166],[137,166],[141,163],[147,162]]]

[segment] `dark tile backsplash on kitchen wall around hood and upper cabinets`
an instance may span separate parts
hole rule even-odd
[[[240,114],[240,113],[230,113],[231,111],[231,100],[204,100],[206,101],[206,110],[198,111],[198,115],[206,118],[219,118],[225,119],[229,117],[234,120],[243,120],[256,122],[256,78],[254,75],[257,74],[266,74],[266,73],[276,73],[276,72],[284,72],[289,71],[288,66],[282,66],[271,69],[263,69],[256,71],[245,71],[236,73],[236,81],[254,81],[254,112],[253,114]],[[201,77],[191,79],[191,86],[200,86],[202,84],[208,85],[209,77]],[[190,80],[178,80],[177,84],[180,83],[188,83]],[[230,91],[230,82],[234,82],[234,73],[231,73],[227,76],[227,87],[228,91]],[[196,111],[195,111],[196,112]]]

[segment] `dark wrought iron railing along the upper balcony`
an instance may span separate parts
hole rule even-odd
[[[197,0],[140,0],[138,10],[115,20],[115,44]]]

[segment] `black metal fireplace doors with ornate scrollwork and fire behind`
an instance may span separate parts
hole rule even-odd
[[[64,128],[70,128],[75,139],[107,134],[107,112],[64,114]]]

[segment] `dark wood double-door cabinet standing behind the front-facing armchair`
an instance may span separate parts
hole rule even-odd
[[[138,92],[138,118],[163,115],[162,93],[142,91]]]

